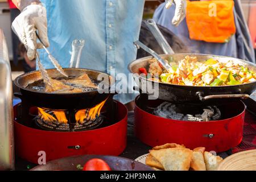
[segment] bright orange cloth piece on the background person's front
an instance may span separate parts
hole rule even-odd
[[[236,33],[234,2],[187,1],[189,37],[212,43],[226,43]]]

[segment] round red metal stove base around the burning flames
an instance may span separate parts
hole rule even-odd
[[[44,131],[14,121],[16,155],[35,164],[42,155],[40,151],[45,152],[46,161],[85,154],[119,155],[126,148],[127,109],[120,102],[117,107],[114,125],[89,131]],[[16,115],[17,105],[14,118]]]

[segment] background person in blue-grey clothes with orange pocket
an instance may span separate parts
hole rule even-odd
[[[214,6],[210,3],[217,5],[216,15],[212,14]],[[174,6],[166,9],[162,3],[155,10],[154,20],[174,32],[192,53],[237,57],[255,63],[240,0],[188,1],[187,16],[178,27],[170,23],[174,14]]]

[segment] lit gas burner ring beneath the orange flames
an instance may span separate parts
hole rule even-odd
[[[45,113],[54,117],[54,112],[52,110],[44,110]],[[65,111],[65,115],[68,115],[68,112]],[[93,130],[102,124],[104,121],[104,117],[100,114],[97,115],[94,119],[85,118],[82,122],[76,122],[69,125],[68,122],[59,122],[59,121],[47,121],[43,119],[40,115],[35,117],[35,123],[43,130],[48,131],[85,131],[85,130]]]

